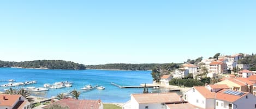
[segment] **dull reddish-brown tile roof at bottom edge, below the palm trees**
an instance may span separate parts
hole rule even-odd
[[[53,104],[61,105],[63,107],[67,106],[69,109],[103,109],[103,103],[101,100],[78,100],[73,98],[61,99],[50,105],[44,106],[43,108],[49,108]]]

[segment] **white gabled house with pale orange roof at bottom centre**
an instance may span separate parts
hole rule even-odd
[[[166,109],[165,104],[178,104],[185,101],[177,93],[132,94],[123,109]]]

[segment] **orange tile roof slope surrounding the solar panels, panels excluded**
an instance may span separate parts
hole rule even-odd
[[[228,89],[223,89],[222,91],[219,91],[218,93],[216,93],[215,99],[228,101],[228,102],[234,102],[234,101],[236,101],[236,100],[238,100],[238,99],[240,99],[240,98],[242,98],[242,97],[244,97],[245,95],[248,94],[248,92],[243,92],[245,94],[239,96],[239,95],[232,95],[232,94],[223,93],[224,91],[227,91],[227,90]]]

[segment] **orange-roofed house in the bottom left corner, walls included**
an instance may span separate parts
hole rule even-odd
[[[0,109],[31,109],[28,100],[19,94],[0,94]]]

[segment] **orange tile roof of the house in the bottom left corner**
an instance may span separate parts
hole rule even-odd
[[[5,100],[3,100],[3,97],[5,97]],[[20,97],[19,94],[0,94],[0,106],[14,106]]]

